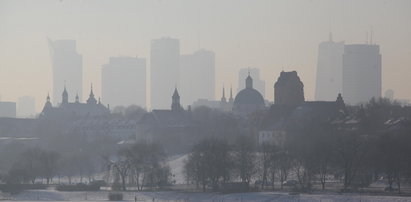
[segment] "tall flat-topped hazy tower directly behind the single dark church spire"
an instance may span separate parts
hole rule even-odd
[[[170,92],[173,92],[179,83],[180,43],[178,39],[152,40],[150,67],[151,108],[169,108]]]

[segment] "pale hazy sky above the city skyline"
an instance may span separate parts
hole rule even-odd
[[[182,54],[216,53],[217,97],[223,83],[237,89],[238,69],[251,66],[261,69],[268,100],[281,70],[297,70],[312,100],[318,44],[330,30],[336,41],[364,43],[371,27],[383,92],[411,99],[409,0],[0,0],[0,95],[31,95],[43,107],[52,92],[46,37],[77,40],[86,97],[91,82],[101,95],[101,65],[110,56],[149,62],[150,40],[170,36]]]

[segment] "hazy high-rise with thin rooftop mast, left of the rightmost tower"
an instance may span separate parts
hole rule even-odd
[[[329,41],[318,47],[317,79],[315,100],[333,101],[342,92],[342,56],[344,42],[334,42],[330,33]]]

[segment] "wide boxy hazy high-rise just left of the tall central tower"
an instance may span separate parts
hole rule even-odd
[[[111,57],[101,70],[102,97],[110,106],[146,107],[146,59]]]

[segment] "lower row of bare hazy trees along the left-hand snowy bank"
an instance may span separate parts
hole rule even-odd
[[[163,149],[158,144],[147,142],[122,146],[115,154],[98,157],[81,151],[62,155],[39,147],[28,148],[14,159],[9,172],[1,177],[8,184],[35,184],[39,179],[50,184],[56,176],[67,177],[69,184],[73,177],[77,177],[82,183],[84,177],[88,177],[90,182],[96,172],[104,170],[99,167],[108,171],[107,182],[114,181],[113,187],[122,190],[126,190],[128,185],[138,190],[152,189],[169,185],[171,181]],[[110,176],[113,178],[109,179]]]

